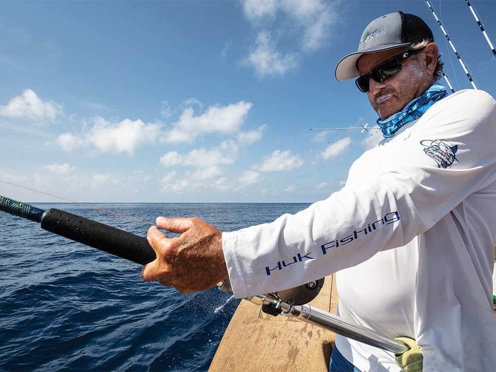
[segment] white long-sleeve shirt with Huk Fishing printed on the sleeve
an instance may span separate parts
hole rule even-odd
[[[494,371],[495,139],[489,94],[438,101],[365,152],[327,199],[223,233],[234,294],[338,272],[339,314],[416,339],[424,371]],[[388,352],[341,336],[336,345],[362,371],[399,371]]]

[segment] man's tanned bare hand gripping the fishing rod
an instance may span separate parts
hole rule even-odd
[[[155,226],[148,230],[148,244],[157,258],[143,266],[144,281],[158,280],[187,293],[204,291],[229,277],[222,233],[198,218],[157,218],[157,226],[179,233],[167,238]]]

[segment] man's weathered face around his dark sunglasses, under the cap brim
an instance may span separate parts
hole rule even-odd
[[[433,83],[432,73],[434,69],[431,68],[432,63],[428,63],[428,54],[431,53],[430,50],[427,50],[428,47],[416,57],[410,57],[403,61],[401,71],[389,79],[381,83],[370,79],[370,89],[367,96],[372,108],[381,119],[386,119],[403,110],[408,102],[420,97]],[[363,55],[357,63],[360,76],[368,74],[378,64],[401,54],[405,50],[405,48],[395,48]]]

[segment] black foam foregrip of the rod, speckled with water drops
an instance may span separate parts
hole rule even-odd
[[[46,211],[41,227],[141,265],[156,257],[146,238],[59,209]]]

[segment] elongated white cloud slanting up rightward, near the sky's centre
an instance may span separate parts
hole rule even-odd
[[[165,132],[165,141],[192,142],[201,133],[235,132],[244,124],[251,106],[250,102],[245,101],[227,106],[210,106],[200,116],[194,116],[193,108],[189,107],[172,129]]]

